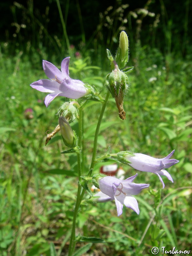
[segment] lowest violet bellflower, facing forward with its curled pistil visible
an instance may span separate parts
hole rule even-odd
[[[117,216],[120,216],[123,212],[123,204],[131,208],[137,214],[139,214],[139,207],[137,200],[132,195],[137,195],[143,188],[148,188],[149,184],[136,184],[132,181],[137,177],[137,173],[126,179],[119,180],[112,176],[106,176],[99,180],[99,187],[101,192],[98,192],[95,196],[99,196],[100,202],[106,202],[114,200],[117,207]]]

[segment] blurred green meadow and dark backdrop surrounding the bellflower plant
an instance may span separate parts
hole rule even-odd
[[[156,175],[138,173],[137,183],[150,184],[137,198],[139,216],[126,208],[117,218],[114,202],[95,204],[86,195],[77,233],[106,243],[94,243],[82,255],[151,255],[153,246],[191,249],[191,8],[189,0],[0,3],[0,255],[67,255],[76,156],[60,154],[66,150],[60,135],[44,146],[63,99],[46,108],[46,94],[29,84],[46,78],[42,59],[59,68],[71,56],[70,76],[105,95],[106,48],[115,54],[122,30],[129,36],[129,66],[135,67],[124,99],[127,119],[119,119],[110,98],[97,155],[108,146],[112,153],[132,150],[159,158],[175,149],[180,162],[169,170],[173,184],[164,177],[164,190]],[[100,108],[94,101],[85,108],[84,174]],[[76,121],[72,128],[78,132]],[[135,174],[121,167],[126,178]],[[97,164],[94,173],[99,169]]]

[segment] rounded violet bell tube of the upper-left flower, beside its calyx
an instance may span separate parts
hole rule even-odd
[[[70,99],[79,99],[87,94],[87,90],[84,87],[84,83],[77,83],[74,79],[64,80],[60,84],[60,91],[64,93],[65,97]]]

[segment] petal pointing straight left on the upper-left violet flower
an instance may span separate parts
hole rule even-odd
[[[49,79],[41,79],[38,80],[32,84],[30,84],[30,86],[40,92],[57,92],[59,93],[59,86],[60,84],[58,84],[55,81],[51,81]]]

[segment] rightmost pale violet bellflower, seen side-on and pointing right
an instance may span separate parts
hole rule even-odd
[[[155,173],[159,177],[164,188],[165,185],[160,175],[166,176],[168,180],[173,182],[171,175],[169,172],[164,170],[164,168],[169,168],[173,164],[177,164],[179,162],[179,160],[176,159],[169,159],[173,155],[174,151],[175,150],[173,150],[168,156],[160,159],[140,153],[135,153],[134,156],[125,154],[124,158],[131,162],[130,165],[136,170]]]

